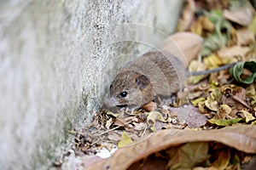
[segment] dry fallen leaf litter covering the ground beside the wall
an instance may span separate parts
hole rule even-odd
[[[108,150],[109,158],[84,169],[250,166],[256,159],[255,35],[255,1],[187,0],[172,36],[188,61],[184,65],[205,71],[236,64],[189,77],[183,91],[162,105],[152,102],[132,113],[102,110],[83,130],[70,131],[76,156]],[[163,48],[172,51],[172,44]]]

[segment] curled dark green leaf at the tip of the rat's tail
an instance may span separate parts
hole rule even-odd
[[[252,72],[250,77],[246,79],[241,79],[241,75],[243,73],[243,69],[247,69]],[[256,62],[255,61],[241,61],[236,63],[233,67],[230,68],[230,74],[235,78],[237,82],[242,82],[245,84],[250,84],[256,78]]]

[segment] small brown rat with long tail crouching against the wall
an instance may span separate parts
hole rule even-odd
[[[176,56],[166,52],[148,52],[126,64],[114,77],[104,105],[126,107],[135,111],[153,101],[155,97],[170,98],[183,88],[183,82],[188,76],[207,75],[235,64],[209,71],[187,72]]]

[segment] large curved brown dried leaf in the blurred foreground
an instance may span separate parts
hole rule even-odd
[[[216,141],[246,153],[256,153],[256,126],[235,125],[218,130],[192,131],[167,129],[140,139],[134,144],[117,150],[110,158],[96,162],[86,168],[103,169],[103,167],[127,169],[132,163],[167,148],[196,141]]]

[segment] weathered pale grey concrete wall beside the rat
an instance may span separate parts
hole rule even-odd
[[[125,60],[173,31],[181,3],[0,1],[0,169],[49,167]]]

